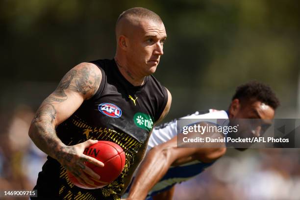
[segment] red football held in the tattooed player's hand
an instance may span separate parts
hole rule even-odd
[[[90,177],[95,185],[82,185],[74,175],[67,171],[70,181],[77,187],[84,189],[97,189],[108,185],[114,181],[123,171],[125,166],[125,152],[123,149],[113,142],[98,141],[97,144],[92,145],[83,152],[84,154],[94,157],[104,163],[104,167],[97,167],[91,163],[85,165],[91,168],[95,173],[100,175],[100,179]],[[82,172],[84,173],[84,172]]]

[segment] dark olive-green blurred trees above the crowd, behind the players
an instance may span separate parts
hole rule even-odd
[[[73,66],[113,58],[115,22],[130,7],[161,16],[168,40],[155,73],[173,94],[167,120],[226,109],[256,79],[296,117],[300,12],[296,0],[1,0],[1,108],[37,108]],[[278,117],[277,115],[277,117]]]

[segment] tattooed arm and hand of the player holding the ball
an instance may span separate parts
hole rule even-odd
[[[60,81],[55,91],[41,104],[32,120],[29,137],[35,145],[69,170],[82,184],[93,181],[83,172],[99,179],[99,175],[84,165],[90,162],[100,167],[103,163],[83,154],[83,150],[95,140],[66,146],[57,137],[55,127],[68,119],[84,100],[93,97],[101,82],[101,71],[92,63],[81,63],[70,70]]]

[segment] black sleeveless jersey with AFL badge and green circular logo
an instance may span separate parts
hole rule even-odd
[[[66,145],[88,139],[115,142],[125,151],[125,168],[109,185],[86,190],[72,184],[66,170],[55,159],[48,160],[39,173],[39,199],[118,200],[124,189],[124,179],[132,173],[135,155],[147,147],[153,124],[161,116],[168,100],[164,88],[152,75],[142,86],[133,86],[120,73],[114,60],[97,60],[102,74],[97,93],[85,100],[75,113],[58,125],[56,133]],[[34,198],[32,198],[34,199]]]

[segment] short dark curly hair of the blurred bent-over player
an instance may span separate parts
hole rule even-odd
[[[246,84],[240,85],[236,88],[236,92],[232,100],[238,99],[240,101],[255,99],[276,109],[280,102],[272,89],[261,82],[250,81]]]

